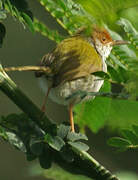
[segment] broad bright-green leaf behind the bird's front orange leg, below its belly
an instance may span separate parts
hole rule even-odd
[[[105,82],[101,92],[110,92],[110,84]],[[96,97],[94,100],[78,104],[75,106],[75,122],[84,128],[88,126],[93,132],[102,128],[107,120],[110,108],[110,99]]]

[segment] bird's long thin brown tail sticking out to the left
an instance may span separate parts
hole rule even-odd
[[[18,66],[18,67],[5,67],[3,68],[4,71],[35,71],[35,72],[41,72],[46,75],[51,74],[51,69],[49,67],[45,66]]]

